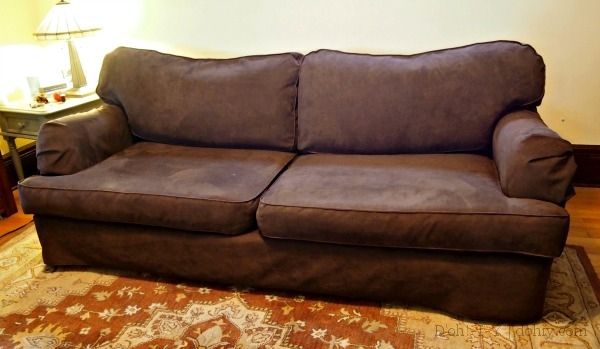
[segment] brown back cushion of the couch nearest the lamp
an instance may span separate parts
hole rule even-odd
[[[292,150],[301,55],[192,59],[118,48],[97,93],[147,141]]]

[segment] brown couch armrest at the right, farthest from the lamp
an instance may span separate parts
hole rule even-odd
[[[563,205],[572,195],[575,161],[571,143],[544,124],[539,114],[520,110],[494,130],[494,160],[504,194]]]

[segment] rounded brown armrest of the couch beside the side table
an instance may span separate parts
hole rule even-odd
[[[105,104],[42,125],[36,148],[38,170],[42,175],[76,173],[131,144],[125,113]]]

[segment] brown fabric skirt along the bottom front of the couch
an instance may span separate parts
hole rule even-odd
[[[35,216],[44,263],[150,272],[421,306],[455,317],[529,322],[542,315],[551,258],[226,236]]]

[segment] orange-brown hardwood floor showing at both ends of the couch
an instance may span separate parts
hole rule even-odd
[[[571,214],[571,229],[567,244],[583,246],[590,257],[594,270],[600,271],[600,188],[576,188],[574,198],[567,203]],[[19,213],[0,220],[0,245],[18,232],[8,233],[27,224],[31,215],[23,214],[18,195],[15,199]]]

